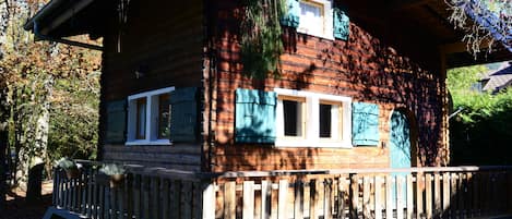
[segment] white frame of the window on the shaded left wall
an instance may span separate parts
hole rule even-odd
[[[175,87],[144,92],[128,96],[127,142],[124,145],[171,145],[170,139],[158,139],[158,96],[169,94]],[[136,139],[136,100],[146,99],[145,138]]]

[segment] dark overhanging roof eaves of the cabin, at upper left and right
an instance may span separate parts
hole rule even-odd
[[[450,12],[442,0],[333,1],[347,9],[350,20],[395,48],[428,50],[432,56],[436,48],[444,51],[448,68],[512,59],[512,51],[499,45],[492,53],[475,60],[461,41],[464,33],[448,21]],[[26,23],[25,29],[34,31],[37,23],[40,33],[49,37],[90,34],[97,38],[107,31],[107,17],[118,14],[119,2],[124,0],[51,0]]]

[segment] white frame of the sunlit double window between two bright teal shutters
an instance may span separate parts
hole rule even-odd
[[[295,89],[285,89],[285,88],[274,88],[274,92],[277,94],[277,108],[276,108],[276,135],[275,141],[276,147],[340,147],[340,148],[352,148],[352,98],[345,96],[335,96],[335,95],[325,95],[303,90]],[[295,97],[295,98],[305,98],[306,99],[306,110],[305,110],[305,136],[301,137],[289,137],[284,135],[284,109],[283,109],[283,98],[285,97]],[[286,98],[285,98],[286,99]],[[319,110],[320,102],[340,102],[342,106],[342,136],[336,136],[332,138],[320,137],[320,126],[319,126]],[[333,123],[333,118],[331,118],[331,123]],[[338,118],[337,118],[338,119]],[[336,120],[337,120],[336,119]],[[335,121],[336,123],[338,122]],[[337,127],[340,129],[340,127]],[[338,132],[340,130],[336,130]],[[333,132],[333,131],[331,131]]]

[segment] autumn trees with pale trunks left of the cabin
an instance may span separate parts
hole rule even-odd
[[[22,183],[26,182],[28,168],[37,162],[45,162],[49,172],[55,156],[72,156],[83,145],[94,147],[97,138],[97,133],[93,133],[85,141],[48,147],[49,142],[60,143],[53,139],[72,138],[62,136],[78,134],[68,130],[76,130],[84,121],[87,127],[80,129],[97,130],[94,120],[97,121],[100,54],[61,44],[34,41],[23,25],[44,2],[7,0],[2,1],[3,11],[0,11],[0,96],[5,97],[0,109],[4,118],[0,122],[7,123],[10,150],[16,155],[14,179]],[[81,38],[85,40],[84,36]],[[50,126],[68,130],[51,132]],[[70,148],[60,154],[64,151],[60,147]],[[56,151],[47,153],[49,148]]]

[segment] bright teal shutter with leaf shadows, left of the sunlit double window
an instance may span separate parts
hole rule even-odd
[[[274,143],[276,94],[255,89],[236,92],[235,141]]]

